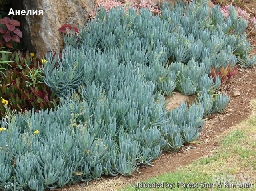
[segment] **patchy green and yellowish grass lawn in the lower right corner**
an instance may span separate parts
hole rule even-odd
[[[248,120],[234,126],[219,138],[220,146],[211,156],[180,167],[176,172],[135,182],[122,191],[151,190],[256,190],[256,100],[252,101],[254,114]],[[172,165],[172,164],[170,164]],[[219,184],[217,182],[222,182]],[[159,183],[159,185],[150,184]],[[190,185],[186,183],[191,183]],[[178,187],[179,184],[179,187]],[[144,185],[146,186],[146,185]],[[159,186],[159,188],[156,188]],[[172,188],[171,188],[172,186]],[[184,188],[183,188],[183,187]],[[168,188],[169,187],[169,188]]]

